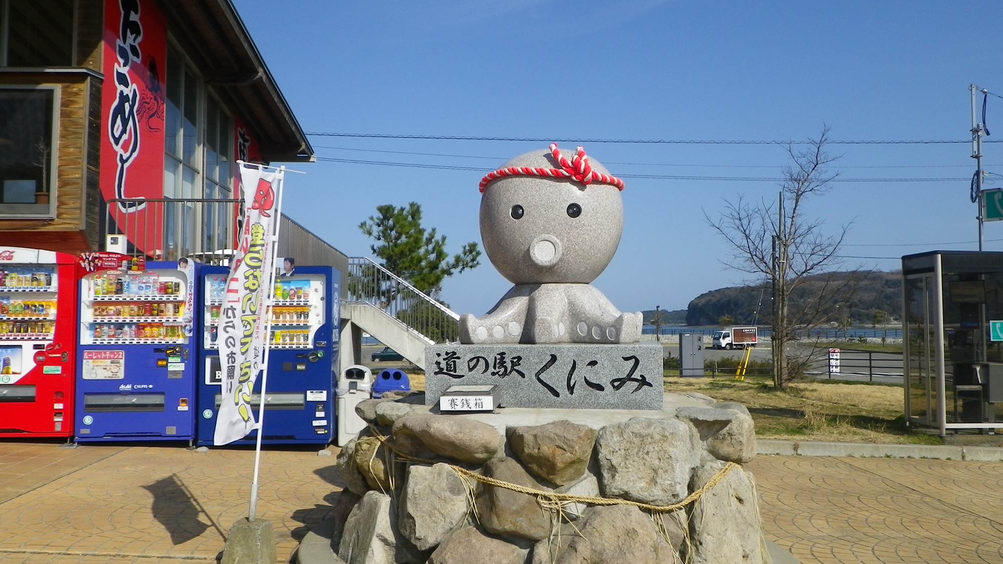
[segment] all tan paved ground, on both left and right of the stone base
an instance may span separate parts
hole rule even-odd
[[[0,562],[210,563],[246,515],[253,451],[0,443]],[[767,536],[803,564],[1003,563],[1003,463],[757,457]],[[333,457],[262,455],[279,561],[327,516]]]

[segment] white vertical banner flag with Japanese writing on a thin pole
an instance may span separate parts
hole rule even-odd
[[[251,394],[265,365],[266,308],[275,275],[275,236],[282,211],[285,171],[241,163],[244,222],[230,263],[220,310],[223,400],[214,445],[244,439],[257,429]],[[261,433],[261,431],[259,431]]]

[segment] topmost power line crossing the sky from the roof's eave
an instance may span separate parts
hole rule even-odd
[[[312,136],[366,137],[380,139],[436,139],[436,140],[500,140],[521,143],[612,143],[612,144],[658,144],[658,145],[802,145],[811,140],[726,140],[726,139],[599,139],[563,137],[501,137],[479,135],[403,135],[390,133],[338,133],[314,131]],[[969,144],[971,139],[927,139],[927,140],[828,140],[827,145],[958,145]],[[1003,139],[986,139],[983,143],[1003,143]]]

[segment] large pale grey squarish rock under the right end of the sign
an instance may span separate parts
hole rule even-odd
[[[687,496],[702,450],[693,426],[679,419],[608,425],[596,436],[602,490],[607,497],[674,504]]]

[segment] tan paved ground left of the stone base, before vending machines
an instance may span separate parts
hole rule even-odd
[[[21,447],[0,444],[0,462]],[[34,465],[43,471],[58,466],[66,452],[81,453],[80,461],[98,456],[95,447],[34,447]],[[243,450],[131,447],[24,487],[0,503],[0,562],[213,562],[230,527],[247,515],[253,457]],[[330,510],[325,498],[340,489],[334,458],[316,450],[266,451],[260,482],[259,515],[275,527],[279,561],[289,562],[299,540]]]

